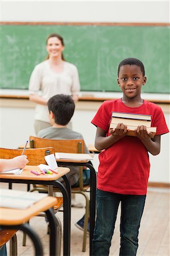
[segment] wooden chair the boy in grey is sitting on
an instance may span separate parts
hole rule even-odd
[[[30,147],[39,148],[39,147],[53,147],[55,152],[65,152],[65,153],[84,153],[85,143],[83,139],[44,139],[34,136],[30,136]],[[60,163],[58,163],[60,164]],[[67,165],[67,163],[66,163]],[[71,188],[71,193],[80,193],[85,197],[86,206],[85,206],[85,221],[84,221],[84,235],[82,242],[82,251],[86,250],[86,236],[88,230],[88,218],[89,218],[89,197],[86,195],[86,191],[90,185],[83,185],[82,179],[82,167],[79,168],[80,184],[77,188]],[[35,190],[42,191],[45,189],[43,186],[36,185]],[[46,189],[47,190],[47,189]],[[54,190],[56,191],[56,189]]]

